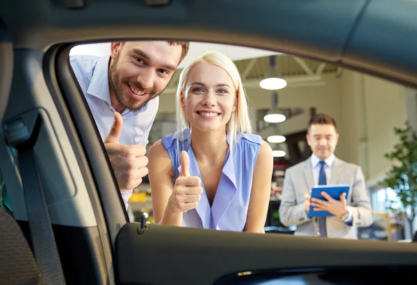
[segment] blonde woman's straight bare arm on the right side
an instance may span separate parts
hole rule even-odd
[[[268,142],[262,141],[254,168],[245,231],[265,233],[263,228],[268,213],[273,168],[272,149]]]

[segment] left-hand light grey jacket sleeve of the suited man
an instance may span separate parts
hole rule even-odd
[[[287,170],[284,177],[281,205],[279,206],[279,220],[286,227],[302,225],[311,220],[304,209],[304,203],[297,204],[295,191],[291,174]]]

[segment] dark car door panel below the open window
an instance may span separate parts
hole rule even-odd
[[[214,284],[224,275],[265,269],[417,266],[417,244],[158,225],[140,229],[138,223],[122,228],[116,253],[120,284]]]

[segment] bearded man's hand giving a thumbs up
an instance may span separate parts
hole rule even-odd
[[[142,177],[148,173],[146,148],[142,145],[120,145],[119,139],[123,129],[120,113],[115,113],[104,147],[110,159],[113,172],[120,190],[130,190],[142,183]]]

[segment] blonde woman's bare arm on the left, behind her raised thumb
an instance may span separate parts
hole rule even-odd
[[[172,163],[162,141],[158,140],[149,149],[149,183],[152,193],[152,211],[157,225],[182,225],[182,213],[170,213],[168,200],[174,190]],[[166,210],[166,213],[165,213]]]

